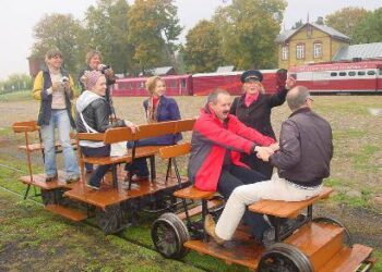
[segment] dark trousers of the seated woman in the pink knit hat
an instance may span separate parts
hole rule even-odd
[[[104,147],[81,147],[81,151],[85,157],[108,157],[110,156],[110,146]],[[98,165],[95,171],[93,171],[88,183],[92,186],[99,187],[100,181],[105,176],[106,172],[110,169],[110,164],[107,165]]]

